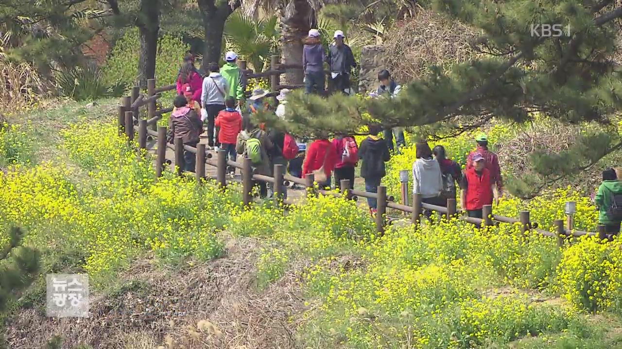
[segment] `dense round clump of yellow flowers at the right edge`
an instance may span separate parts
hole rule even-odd
[[[564,251],[557,268],[564,297],[580,309],[622,309],[622,243],[583,237]]]

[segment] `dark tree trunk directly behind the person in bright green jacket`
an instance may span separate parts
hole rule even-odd
[[[218,6],[215,5],[215,1],[218,1]],[[203,18],[203,34],[205,35],[205,52],[203,52],[203,61],[201,62],[201,69],[205,73],[208,72],[207,65],[209,63],[220,61],[225,22],[233,10],[239,6],[239,1],[230,5],[228,1],[198,0],[198,8]]]

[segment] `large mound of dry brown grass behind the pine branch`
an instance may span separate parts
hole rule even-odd
[[[477,36],[469,27],[424,9],[398,22],[384,35],[391,75],[401,81],[421,78],[430,65],[445,68],[476,55],[470,43]]]

